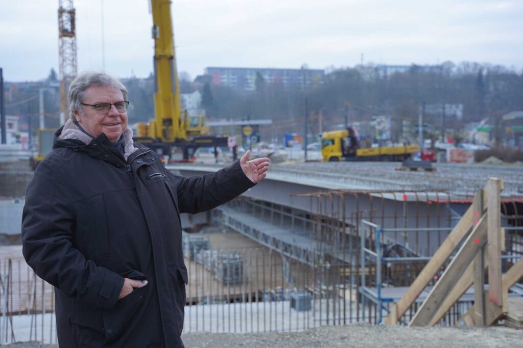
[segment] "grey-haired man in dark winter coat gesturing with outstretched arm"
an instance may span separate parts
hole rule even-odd
[[[177,347],[187,269],[180,213],[225,203],[266,176],[268,159],[181,177],[133,142],[127,90],[82,73],[71,119],[27,188],[23,253],[55,286],[61,347]]]

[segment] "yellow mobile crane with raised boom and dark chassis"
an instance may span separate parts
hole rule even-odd
[[[146,125],[138,124],[134,138],[161,155],[170,156],[173,149],[180,149],[183,160],[190,161],[197,148],[226,146],[227,138],[208,135],[204,116],[188,116],[181,110],[170,3],[151,0],[155,118]]]

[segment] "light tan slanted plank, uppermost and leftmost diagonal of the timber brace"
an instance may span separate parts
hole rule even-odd
[[[487,199],[488,194],[482,190],[476,193],[476,196],[483,196],[483,206]],[[475,197],[474,197],[475,198]],[[472,229],[474,222],[474,208],[471,206],[463,214],[463,217],[460,221],[454,226],[450,234],[445,238],[445,241],[441,243],[441,246],[438,248],[434,256],[428,261],[425,268],[419,273],[412,285],[409,287],[405,295],[397,303],[397,319],[400,319],[407,309],[414,303],[416,298],[420,293],[425,289],[428,282],[431,281],[434,277],[434,274],[439,270],[443,263],[449,258],[454,249],[463,241],[463,239],[469,234]],[[385,319],[385,325],[391,325],[392,318],[389,315]]]

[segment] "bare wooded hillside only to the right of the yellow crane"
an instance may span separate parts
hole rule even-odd
[[[258,79],[257,79],[258,81]],[[463,104],[465,122],[523,107],[523,74],[502,66],[451,62],[438,69],[413,65],[404,73],[384,76],[377,66],[331,69],[323,85],[308,91],[259,82],[254,93],[211,86],[208,115],[215,118],[303,117],[304,100],[311,112],[343,118],[345,102],[356,120],[376,114],[417,119],[420,105]]]

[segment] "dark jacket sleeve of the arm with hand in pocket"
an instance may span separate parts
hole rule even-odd
[[[123,278],[98,267],[73,246],[74,215],[60,185],[60,172],[42,161],[27,187],[22,213],[22,252],[40,278],[67,296],[97,308],[112,308]]]

